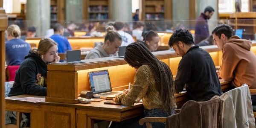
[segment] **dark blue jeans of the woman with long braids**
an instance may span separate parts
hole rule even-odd
[[[128,119],[121,122],[112,122],[110,128],[146,128],[146,125],[140,125],[139,120],[143,117],[168,117],[174,114],[175,111],[172,110],[171,113],[166,113],[161,109],[151,109],[151,110],[144,110],[144,116],[135,117],[132,119]],[[165,128],[165,123],[162,122],[153,122],[151,123],[152,128]]]

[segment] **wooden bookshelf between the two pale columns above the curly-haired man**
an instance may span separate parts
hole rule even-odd
[[[140,20],[172,19],[172,0],[140,0]]]

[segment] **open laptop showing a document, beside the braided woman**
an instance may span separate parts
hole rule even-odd
[[[112,91],[108,70],[88,72],[93,96],[115,97],[119,92]]]

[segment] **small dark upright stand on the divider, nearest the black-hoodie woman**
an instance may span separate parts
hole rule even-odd
[[[85,63],[85,61],[81,61],[81,50],[69,50],[67,51],[67,61],[61,63],[76,64]]]

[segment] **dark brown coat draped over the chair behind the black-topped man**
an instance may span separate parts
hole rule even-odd
[[[166,119],[166,128],[223,128],[222,104],[219,96],[205,102],[189,100],[179,113]]]

